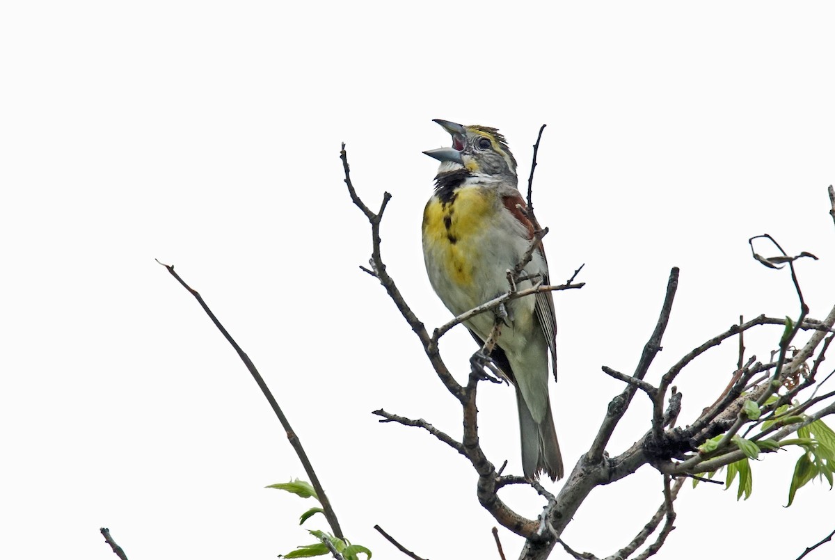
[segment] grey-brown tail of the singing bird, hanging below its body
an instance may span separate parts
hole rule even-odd
[[[522,397],[522,391],[516,390],[516,406],[519,408],[519,432],[522,440],[522,470],[527,478],[539,476],[545,472],[551,480],[563,477],[563,457],[559,452],[554,416],[551,415],[551,403],[543,421],[537,423]]]

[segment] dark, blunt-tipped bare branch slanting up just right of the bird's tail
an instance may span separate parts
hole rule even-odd
[[[673,267],[670,271],[670,279],[667,280],[664,305],[661,306],[658,323],[655,325],[655,330],[650,336],[650,340],[647,341],[644,346],[644,351],[641,353],[638,366],[635,367],[635,374],[632,376],[636,380],[642,381],[644,379],[646,371],[650,369],[650,364],[655,358],[655,354],[657,354],[661,349],[661,337],[664,335],[667,323],[670,320],[670,311],[672,309],[673,299],[676,296],[676,288],[678,288],[678,276],[678,267]],[[626,408],[629,406],[632,396],[635,396],[636,390],[635,385],[627,386],[624,391],[619,396],[616,396],[615,400],[610,403],[609,411],[607,411],[603,424],[600,426],[597,436],[595,436],[595,441],[591,444],[589,452],[586,453],[585,457],[588,462],[600,462],[600,459],[603,457],[606,444],[609,442],[612,432],[615,431],[615,426],[617,426],[620,418],[623,417]],[[660,394],[660,396],[659,394],[656,394],[655,396],[656,401],[664,398],[663,394]],[[659,422],[660,421],[662,420],[659,414]]]

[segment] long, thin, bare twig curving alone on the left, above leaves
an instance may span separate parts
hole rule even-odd
[[[159,260],[157,260],[157,262],[160,265],[163,265],[163,263],[160,263]],[[310,478],[311,484],[316,489],[316,497],[318,497],[319,502],[321,502],[322,510],[325,513],[328,525],[331,526],[331,531],[333,531],[333,534],[336,537],[339,537],[344,540],[345,536],[342,534],[342,528],[339,527],[337,514],[333,511],[333,507],[331,507],[331,501],[327,498],[325,488],[321,486],[321,482],[319,482],[319,477],[316,476],[316,471],[313,470],[313,465],[311,464],[310,459],[307,458],[307,453],[305,452],[304,447],[301,446],[299,436],[296,435],[296,431],[293,431],[292,426],[290,426],[290,421],[288,421],[287,417],[284,416],[284,412],[281,411],[281,407],[278,406],[276,397],[272,396],[270,388],[266,386],[264,378],[261,377],[261,373],[258,372],[255,364],[253,364],[250,360],[250,356],[246,355],[245,351],[243,351],[240,348],[240,346],[238,346],[238,343],[235,342],[235,339],[233,339],[232,335],[229,334],[229,331],[226,330],[225,327],[220,324],[220,320],[218,320],[215,314],[212,313],[212,310],[209,309],[209,305],[206,305],[200,293],[198,293],[197,290],[191,288],[190,285],[186,284],[185,280],[180,278],[180,275],[178,275],[174,271],[174,265],[163,266],[169,271],[170,275],[174,276],[175,279],[178,282],[180,282],[180,285],[182,285],[185,288],[185,290],[188,290],[188,292],[191,295],[195,296],[195,300],[197,300],[197,302],[200,304],[200,307],[203,308],[205,314],[209,315],[209,318],[212,320],[213,323],[215,323],[215,326],[218,330],[220,330],[220,333],[224,335],[226,341],[229,341],[230,345],[232,345],[232,347],[238,353],[238,356],[240,356],[240,360],[244,362],[244,365],[246,366],[246,369],[250,371],[252,378],[256,380],[256,383],[261,388],[261,392],[264,393],[266,400],[269,401],[270,406],[272,407],[272,411],[276,413],[278,421],[281,422],[281,426],[286,431],[287,440],[290,441],[290,445],[293,447],[293,450],[299,457],[299,461],[301,461],[301,466],[304,467],[307,477]]]

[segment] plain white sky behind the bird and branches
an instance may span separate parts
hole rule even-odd
[[[264,489],[305,477],[281,426],[154,258],[256,362],[349,538],[403,557],[379,523],[433,560],[498,557],[468,462],[371,415],[460,436],[457,403],[357,269],[369,230],[340,143],[372,208],[392,193],[383,255],[433,326],[449,315],[423,270],[436,162],[421,152],[450,140],[431,119],[498,127],[523,178],[548,124],[534,203],[554,280],[585,263],[587,283],[557,295],[552,401],[570,470],[622,389],[600,366],[633,371],[671,266],[680,288],[649,381],[740,314],[797,315],[787,271],[751,260],[751,235],[820,257],[798,270],[812,316],[827,314],[833,24],[830,3],[3,3],[0,557],[113,558],[103,526],[132,560],[266,559],[311,541],[296,523],[314,504]],[[780,329],[756,333],[746,346],[767,359]],[[463,378],[469,336],[442,349]],[[684,371],[680,423],[735,364],[736,340]],[[484,384],[479,399],[488,457],[520,472],[513,391]],[[649,426],[635,396],[609,451]],[[782,507],[797,457],[754,465],[747,502],[688,484],[660,557],[797,557],[835,528],[820,483]],[[651,467],[596,489],[565,540],[615,552],[660,489]],[[528,517],[542,505],[504,497]],[[500,534],[515,557],[521,539]]]

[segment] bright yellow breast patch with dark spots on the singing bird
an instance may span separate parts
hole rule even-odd
[[[466,186],[447,200],[433,196],[423,210],[423,248],[443,273],[458,285],[473,281],[473,265],[481,258],[479,240],[495,211],[494,194]]]

